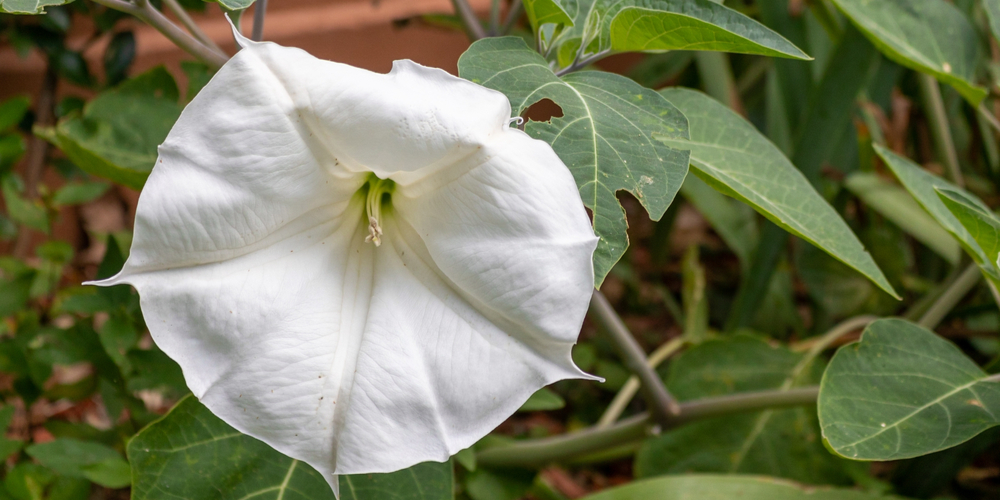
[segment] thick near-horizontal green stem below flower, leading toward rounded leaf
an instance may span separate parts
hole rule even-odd
[[[816,402],[818,395],[819,387],[813,386],[688,401],[681,403],[680,415],[671,421],[670,426],[661,429],[733,413],[809,405]],[[591,427],[563,436],[486,448],[476,453],[476,463],[483,467],[543,467],[645,439],[651,430],[655,430],[652,417],[648,413],[640,413],[610,427]]]

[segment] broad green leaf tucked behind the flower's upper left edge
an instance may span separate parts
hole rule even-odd
[[[180,113],[177,85],[159,67],[37,133],[88,173],[139,189],[156,162],[156,147]]]

